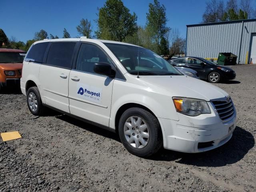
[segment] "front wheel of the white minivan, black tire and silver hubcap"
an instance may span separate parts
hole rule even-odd
[[[163,145],[157,118],[142,108],[126,110],[120,118],[118,132],[126,150],[136,156],[151,156]]]

